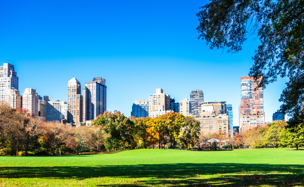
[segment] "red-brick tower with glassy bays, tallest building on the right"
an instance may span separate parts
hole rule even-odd
[[[262,78],[261,78],[262,79]],[[261,81],[258,80],[258,81]],[[257,112],[264,111],[263,88],[257,88],[252,77],[241,77],[241,104],[239,113],[252,113],[252,107]]]

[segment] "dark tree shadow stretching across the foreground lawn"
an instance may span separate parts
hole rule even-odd
[[[303,165],[288,164],[139,164],[52,167],[0,167],[1,178],[77,179],[111,177],[126,184],[97,186],[303,186]],[[131,181],[131,182],[130,182]],[[132,182],[133,181],[133,182]],[[130,184],[129,184],[130,183]]]

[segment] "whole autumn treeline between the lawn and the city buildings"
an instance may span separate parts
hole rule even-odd
[[[135,148],[234,149],[303,146],[304,130],[288,128],[285,121],[255,127],[245,133],[203,134],[191,116],[167,113],[157,118],[127,118],[119,111],[104,112],[91,126],[70,127],[46,122],[25,109],[0,103],[0,154],[55,155],[116,151]]]

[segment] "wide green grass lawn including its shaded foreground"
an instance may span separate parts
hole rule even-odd
[[[304,186],[304,150],[0,157],[0,186]]]

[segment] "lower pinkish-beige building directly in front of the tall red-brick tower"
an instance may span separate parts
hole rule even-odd
[[[265,113],[259,112],[259,109],[252,107],[250,113],[240,114],[240,132],[253,129],[256,126],[265,125]]]

